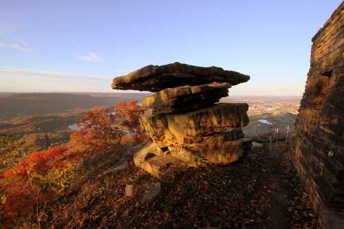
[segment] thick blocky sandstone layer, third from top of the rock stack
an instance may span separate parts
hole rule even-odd
[[[190,144],[206,135],[245,127],[249,120],[246,103],[217,103],[188,113],[145,115],[141,124],[159,146]]]

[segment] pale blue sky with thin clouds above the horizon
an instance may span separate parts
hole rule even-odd
[[[233,95],[301,96],[312,36],[340,0],[1,1],[0,91],[111,92],[145,65],[249,74]]]

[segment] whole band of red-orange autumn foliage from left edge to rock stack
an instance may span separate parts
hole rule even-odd
[[[34,214],[39,205],[72,187],[78,160],[116,149],[129,138],[134,144],[144,141],[140,127],[144,110],[137,101],[129,101],[118,102],[113,112],[107,107],[89,111],[78,122],[80,129],[72,133],[67,144],[22,155],[0,180],[0,221]]]

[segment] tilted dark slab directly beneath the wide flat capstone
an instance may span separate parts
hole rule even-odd
[[[209,107],[228,96],[230,83],[211,83],[199,86],[167,88],[143,98],[143,105],[153,114],[184,113]]]

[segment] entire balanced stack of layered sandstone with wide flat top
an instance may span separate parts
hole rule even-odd
[[[153,142],[136,153],[136,166],[161,177],[175,168],[239,160],[252,146],[241,130],[249,122],[248,105],[217,102],[249,78],[182,63],[149,65],[114,78],[113,89],[156,92],[143,100],[149,111],[141,124]]]

